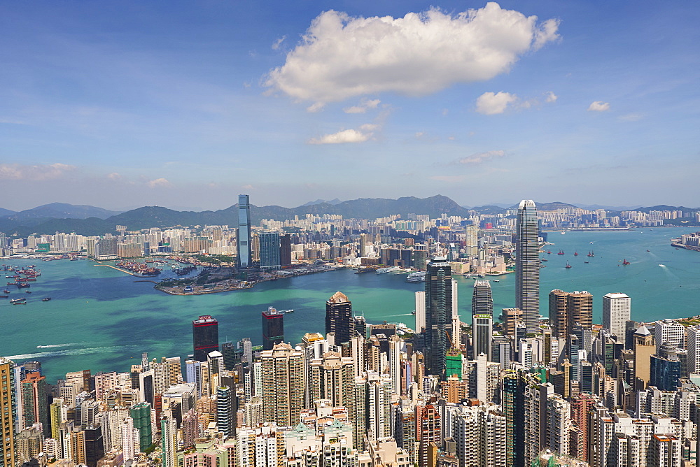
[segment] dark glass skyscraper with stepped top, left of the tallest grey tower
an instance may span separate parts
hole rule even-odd
[[[442,376],[452,319],[452,273],[447,259],[435,257],[426,272],[426,354],[428,372]]]

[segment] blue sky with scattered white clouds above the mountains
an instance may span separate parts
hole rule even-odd
[[[0,0],[0,207],[700,205],[700,3]]]

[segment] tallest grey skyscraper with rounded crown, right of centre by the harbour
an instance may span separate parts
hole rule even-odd
[[[537,208],[531,199],[520,201],[515,238],[515,306],[523,310],[528,333],[540,328],[540,245]]]

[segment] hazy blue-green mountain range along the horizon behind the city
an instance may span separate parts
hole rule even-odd
[[[576,206],[559,201],[553,203],[535,203],[538,210],[556,210],[559,208],[575,208]],[[322,199],[306,203],[297,208],[282,206],[253,206],[251,205],[251,222],[260,224],[262,219],[288,220],[295,216],[335,214],[356,219],[376,219],[389,215],[427,214],[430,217],[440,217],[441,214],[466,217],[469,211],[481,214],[496,215],[505,213],[507,209],[517,209],[517,204],[509,208],[501,206],[477,206],[467,209],[459,206],[447,196],[436,195],[429,198],[406,196],[399,199],[361,198],[350,201],[325,201]],[[651,206],[638,208],[640,211],[650,210],[700,210],[676,206]],[[53,234],[56,231],[75,232],[83,235],[101,235],[116,231],[117,225],[124,225],[129,230],[146,229],[148,227],[204,226],[238,224],[238,205],[221,210],[179,211],[160,206],[144,206],[120,213],[94,206],[74,206],[66,203],[50,203],[33,209],[15,212],[0,208],[0,231],[8,235],[28,236],[30,234]]]

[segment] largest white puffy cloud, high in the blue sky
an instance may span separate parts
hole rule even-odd
[[[264,85],[300,101],[342,101],[399,92],[419,96],[489,80],[554,41],[557,20],[538,22],[498,3],[452,15],[432,8],[404,17],[318,15]]]

